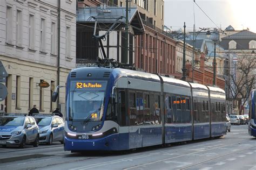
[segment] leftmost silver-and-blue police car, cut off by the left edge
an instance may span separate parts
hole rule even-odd
[[[0,145],[17,145],[24,148],[31,143],[39,145],[39,129],[35,119],[27,114],[4,114],[0,116]]]

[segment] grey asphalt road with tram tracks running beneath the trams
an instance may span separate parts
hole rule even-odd
[[[0,147],[0,169],[250,169],[256,170],[256,138],[247,125],[232,125],[217,139],[129,152],[70,153],[59,143]]]

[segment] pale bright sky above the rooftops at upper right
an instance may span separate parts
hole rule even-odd
[[[256,0],[165,0],[164,25],[172,31],[199,27],[248,29],[256,33]],[[201,9],[200,9],[201,8]],[[208,17],[207,17],[208,16]]]

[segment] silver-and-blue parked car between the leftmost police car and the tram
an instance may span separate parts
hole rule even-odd
[[[64,142],[64,121],[52,114],[33,114],[39,126],[39,142],[51,145],[53,141]]]

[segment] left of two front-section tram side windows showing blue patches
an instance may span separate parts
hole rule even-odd
[[[137,92],[136,98],[136,110],[137,110],[137,117],[136,117],[136,124],[142,125],[144,123],[144,104],[143,104],[143,93]]]

